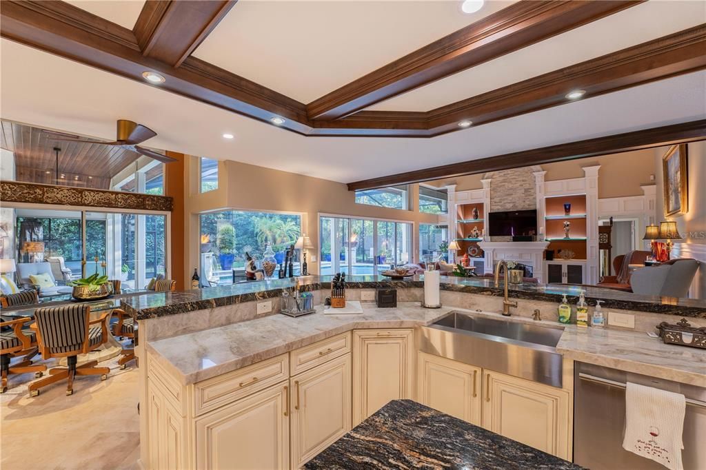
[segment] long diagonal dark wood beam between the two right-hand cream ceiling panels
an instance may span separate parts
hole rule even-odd
[[[518,1],[314,100],[309,118],[339,119],[640,3]]]

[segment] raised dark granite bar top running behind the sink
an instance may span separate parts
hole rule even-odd
[[[332,276],[308,276],[301,284],[302,290],[315,291],[330,289]],[[271,279],[267,281],[243,282],[229,286],[193,289],[189,291],[167,292],[163,294],[143,294],[126,296],[121,299],[122,308],[137,320],[157,318],[163,315],[176,315],[217,306],[271,299],[282,294],[283,289],[291,289],[295,279]],[[386,287],[410,289],[424,287],[424,275],[395,281],[385,276],[347,277],[349,289],[375,289]],[[604,301],[604,308],[667,313],[693,318],[706,318],[706,301],[696,299],[672,299],[659,296],[642,296],[629,292],[591,286],[570,286],[564,284],[512,284],[510,297],[558,303],[566,294],[571,303],[578,301],[581,291],[586,301],[594,306],[597,300]],[[494,287],[493,279],[487,277],[441,277],[441,290],[502,296],[503,288]]]

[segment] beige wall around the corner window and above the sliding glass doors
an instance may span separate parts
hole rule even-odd
[[[355,203],[355,195],[344,183],[287,173],[265,167],[222,161],[218,165],[218,189],[198,193],[196,169],[198,158],[187,159],[185,177],[189,179],[189,198],[185,204],[186,246],[189,263],[185,277],[191,277],[198,266],[198,214],[222,209],[263,210],[301,213],[302,229],[318,248],[319,213],[352,215],[413,222],[412,239],[414,257],[419,247],[419,224],[436,224],[436,215],[419,213],[419,186],[410,185],[409,205],[412,210],[388,209]],[[317,263],[309,263],[311,272],[318,272]]]

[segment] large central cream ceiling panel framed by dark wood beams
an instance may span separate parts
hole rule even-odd
[[[240,0],[193,55],[309,103],[513,3]]]

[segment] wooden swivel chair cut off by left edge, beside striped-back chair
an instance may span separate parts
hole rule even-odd
[[[0,369],[2,370],[0,393],[7,390],[7,376],[9,374],[33,372],[35,377],[42,377],[44,370],[47,370],[47,366],[44,364],[32,365],[32,361],[30,361],[30,358],[37,354],[37,335],[31,330],[23,330],[22,328],[25,323],[30,321],[32,318],[28,317],[0,321]],[[25,356],[25,359],[11,366],[10,361],[16,356]]]

